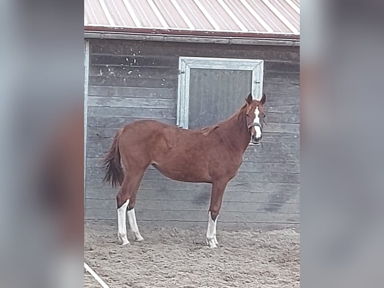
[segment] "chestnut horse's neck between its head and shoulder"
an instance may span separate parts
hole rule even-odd
[[[251,133],[247,128],[246,116],[241,111],[239,114],[229,118],[223,125],[223,136],[226,138],[226,145],[232,150],[238,150],[242,154],[251,141]]]

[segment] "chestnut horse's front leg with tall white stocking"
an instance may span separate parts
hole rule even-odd
[[[219,180],[212,184],[211,205],[208,212],[208,228],[206,233],[206,240],[210,248],[215,248],[218,244],[216,238],[216,225],[227,184],[228,180]]]

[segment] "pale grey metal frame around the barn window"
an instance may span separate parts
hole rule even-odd
[[[259,100],[263,95],[264,60],[180,56],[176,125],[184,129],[188,128],[190,68],[252,71],[252,96]]]

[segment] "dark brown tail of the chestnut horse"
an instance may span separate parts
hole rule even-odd
[[[112,147],[104,159],[104,167],[107,170],[103,181],[112,183],[112,187],[123,183],[124,170],[120,162],[119,136],[123,129],[119,129],[113,138]]]

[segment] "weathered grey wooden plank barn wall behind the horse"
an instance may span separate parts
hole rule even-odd
[[[299,48],[122,40],[90,41],[85,218],[116,219],[117,189],[102,182],[101,168],[116,130],[142,118],[175,125],[179,56],[265,61],[269,125],[264,147],[247,149],[238,176],[226,190],[219,222],[297,225]],[[206,223],[210,187],[172,181],[150,167],[138,192],[137,219]]]

